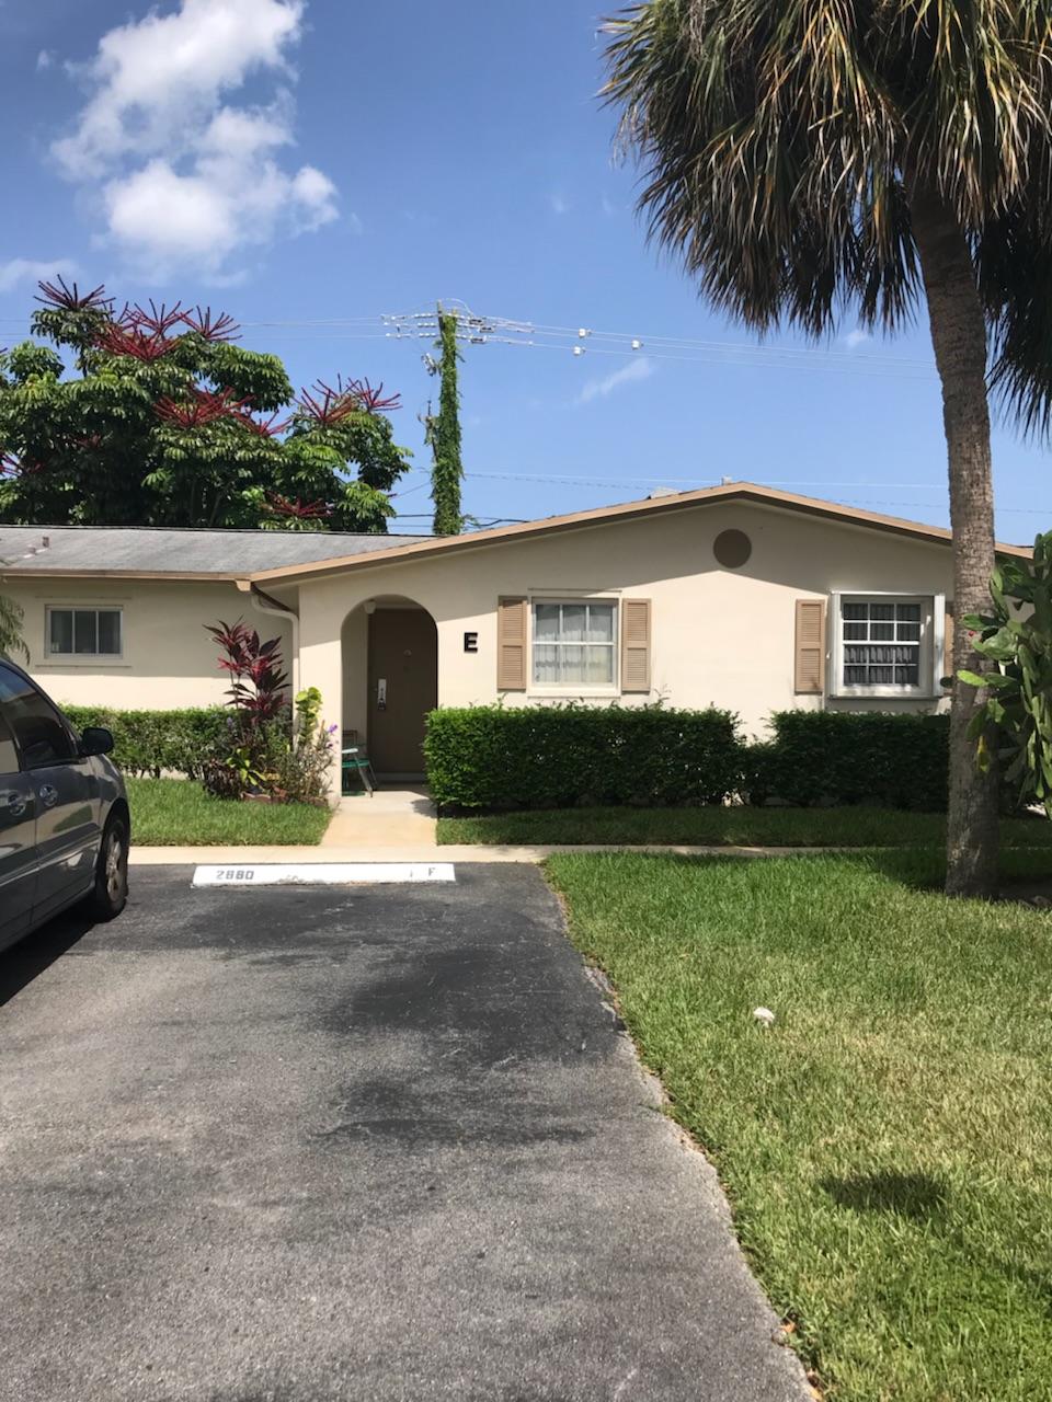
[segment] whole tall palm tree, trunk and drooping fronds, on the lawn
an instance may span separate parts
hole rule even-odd
[[[641,209],[703,296],[757,331],[886,331],[927,301],[943,386],[954,599],[989,607],[990,383],[1027,429],[1052,397],[1049,0],[651,0],[609,25],[607,98]],[[969,641],[957,631],[955,670]],[[989,670],[976,656],[975,667]],[[996,775],[954,683],[947,890],[996,882]]]

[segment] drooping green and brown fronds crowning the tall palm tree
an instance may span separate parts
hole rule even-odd
[[[1025,402],[1046,332],[993,244],[1025,241],[1046,286],[1018,210],[1052,200],[1052,0],[649,0],[606,28],[641,212],[703,296],[760,331],[818,336],[847,306],[899,325],[923,182],[976,248],[994,380]]]

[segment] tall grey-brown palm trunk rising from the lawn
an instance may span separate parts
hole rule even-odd
[[[927,294],[931,343],[943,381],[943,425],[950,464],[950,524],[954,530],[954,613],[989,613],[993,551],[990,412],[986,400],[986,322],[975,268],[952,207],[915,186],[913,238]],[[986,663],[954,629],[954,673]],[[979,693],[954,680],[950,716],[950,896],[992,896],[997,883],[997,773],[982,773],[965,733]]]

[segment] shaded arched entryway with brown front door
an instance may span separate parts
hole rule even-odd
[[[412,599],[377,594],[344,624],[344,729],[380,780],[424,777],[424,719],[438,705],[438,629]]]

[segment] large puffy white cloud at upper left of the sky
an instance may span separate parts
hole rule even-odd
[[[258,74],[293,76],[303,11],[304,0],[181,0],[108,31],[72,70],[88,97],[52,153],[69,179],[101,188],[104,241],[143,275],[230,280],[245,250],[338,217],[323,171],[279,161],[293,144],[290,93],[231,101]]]

